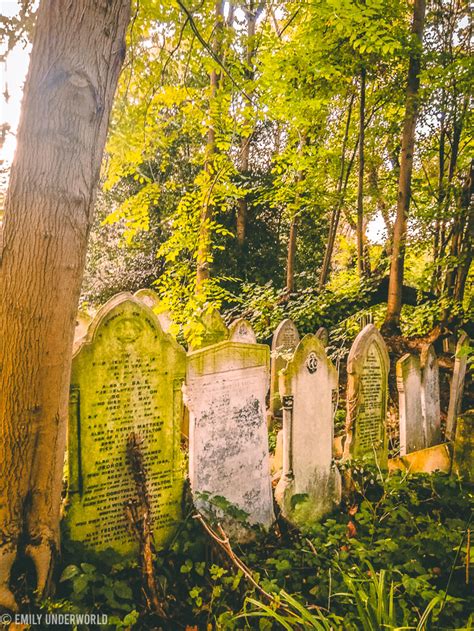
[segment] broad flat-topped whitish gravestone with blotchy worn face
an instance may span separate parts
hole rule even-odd
[[[245,541],[273,520],[265,395],[268,347],[224,341],[188,354],[189,477],[196,507]],[[233,508],[231,508],[233,507]],[[228,510],[226,510],[228,508]]]

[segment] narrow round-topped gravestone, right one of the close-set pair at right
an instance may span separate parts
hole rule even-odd
[[[425,447],[434,447],[441,442],[441,404],[438,358],[432,344],[422,349],[420,366]]]

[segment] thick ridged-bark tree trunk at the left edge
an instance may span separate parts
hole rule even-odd
[[[0,608],[26,545],[59,545],[69,376],[87,238],[130,0],[40,3],[0,264]]]

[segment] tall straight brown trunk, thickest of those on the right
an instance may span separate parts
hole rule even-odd
[[[418,91],[420,87],[420,62],[425,9],[425,0],[415,0],[412,33],[415,36],[416,48],[410,55],[408,68],[405,119],[403,122],[402,148],[400,152],[397,215],[393,230],[387,314],[382,327],[382,331],[386,335],[393,335],[400,332],[407,218],[410,208],[411,174],[413,169],[413,151],[415,148],[416,119],[418,115]]]

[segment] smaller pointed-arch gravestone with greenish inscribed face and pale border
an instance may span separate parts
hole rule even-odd
[[[347,359],[344,459],[366,456],[387,467],[387,347],[373,324],[356,337]]]

